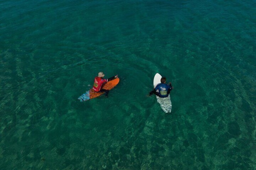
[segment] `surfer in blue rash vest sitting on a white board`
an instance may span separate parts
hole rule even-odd
[[[171,82],[169,82],[169,84],[165,84],[165,83],[166,83],[166,78],[162,77],[161,83],[159,83],[152,91],[149,92],[149,96],[151,96],[152,94],[155,94],[159,97],[168,97],[173,87],[171,85]],[[157,90],[159,92],[157,92]]]

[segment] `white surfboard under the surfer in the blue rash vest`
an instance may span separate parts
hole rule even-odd
[[[159,73],[156,73],[154,76],[154,81],[153,81],[153,85],[154,88],[156,87],[156,85],[158,85],[159,83],[161,83],[161,78],[162,76]],[[170,95],[168,95],[168,97],[158,97],[156,96],[157,102],[160,104],[162,110],[164,110],[165,113],[171,113],[171,98]]]

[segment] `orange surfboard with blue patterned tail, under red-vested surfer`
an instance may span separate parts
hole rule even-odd
[[[111,90],[112,88],[114,88],[118,83],[119,83],[119,78],[116,78],[114,80],[110,80],[109,82],[106,82],[103,86],[103,89],[106,90]],[[101,94],[103,94],[104,92],[100,93],[100,92],[95,92],[92,88],[89,91],[86,91],[84,94],[82,94],[80,97],[78,97],[78,100],[80,101],[86,101],[86,100],[90,100],[93,99],[95,97],[100,96]]]

